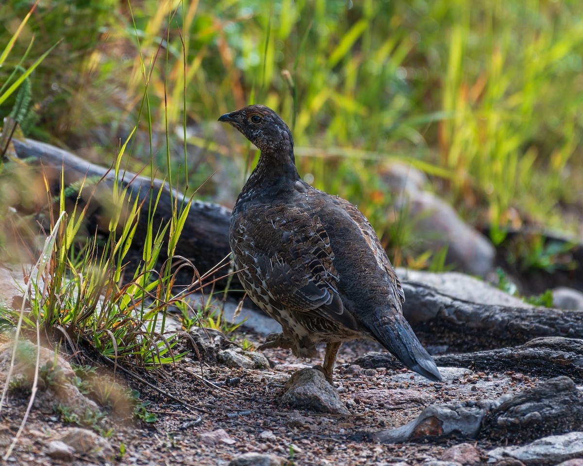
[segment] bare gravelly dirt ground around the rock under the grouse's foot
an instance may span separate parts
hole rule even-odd
[[[255,346],[261,343],[252,334],[247,338]],[[158,420],[147,424],[134,419],[115,425],[108,442],[117,458],[109,464],[221,466],[240,454],[257,451],[287,458],[297,466],[387,466],[399,462],[419,465],[427,458],[441,458],[447,447],[462,440],[381,445],[371,442],[371,435],[411,421],[434,403],[497,398],[538,383],[514,373],[463,374],[460,369],[444,369],[444,379],[448,380],[433,383],[408,370],[349,367],[347,363],[368,351],[380,351],[380,347],[370,342],[352,342],[339,352],[334,378],[350,411],[347,416],[296,411],[279,404],[291,373],[310,366],[287,350],[265,351],[273,368],[262,370],[206,364],[201,368],[193,354],[164,373],[142,375],[156,389],[118,372],[118,382],[138,390],[141,400],[150,401],[147,409]],[[201,379],[201,370],[206,381]],[[11,392],[2,409],[2,454],[20,425],[28,400],[27,396]],[[70,427],[62,422],[61,415],[33,407],[6,464],[108,464],[82,456],[72,463],[47,457],[47,442]],[[218,429],[224,429],[226,435],[208,434]],[[493,445],[476,443],[476,447],[486,464],[484,452]]]

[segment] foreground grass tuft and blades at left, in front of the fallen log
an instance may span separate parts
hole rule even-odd
[[[26,24],[29,19],[30,15],[26,16],[21,24]],[[19,27],[13,37],[18,37],[22,30],[23,27]],[[135,32],[138,36],[137,31]],[[6,50],[10,51],[13,43],[15,41],[11,41]],[[15,84],[22,83],[47,53],[37,59],[29,70],[20,71],[23,77],[15,77]],[[5,59],[8,53],[3,53],[1,57]],[[156,64],[157,57],[157,54],[151,57],[149,66]],[[164,57],[160,59],[164,61]],[[20,63],[16,66],[22,68]],[[149,80],[152,73],[143,60],[141,69],[142,104],[136,118],[141,119],[143,114],[149,128],[147,136],[152,153],[153,115]],[[10,75],[10,79],[13,76],[14,73]],[[30,93],[30,89],[27,88],[27,91]],[[16,105],[19,105],[19,100],[16,100]],[[167,115],[163,121],[168,122]],[[72,348],[77,348],[79,342],[83,342],[115,363],[121,361],[143,368],[171,363],[184,355],[174,350],[181,333],[168,329],[166,311],[170,306],[177,305],[181,309],[189,309],[196,316],[197,313],[192,309],[192,303],[187,302],[187,298],[193,292],[202,290],[205,285],[203,280],[208,278],[208,274],[199,274],[195,266],[185,264],[184,259],[183,264],[178,267],[173,264],[175,248],[188,216],[190,203],[184,197],[180,197],[184,200],[179,203],[178,196],[174,196],[170,145],[166,144],[168,150],[164,171],[168,175],[168,192],[172,205],[171,215],[166,223],[157,225],[154,221],[162,190],[166,187],[154,190],[152,179],[149,196],[141,197],[136,192],[140,186],[124,181],[124,177],[127,177],[125,167],[129,160],[128,151],[132,147],[129,142],[135,142],[134,130],[131,130],[125,143],[117,148],[117,155],[110,169],[113,176],[108,173],[99,179],[84,178],[66,186],[65,174],[62,172],[60,183],[56,183],[56,194],[53,192],[55,180],[51,174],[17,160],[10,164],[0,161],[0,168],[4,169],[0,170],[2,204],[20,204],[23,210],[30,209],[39,213],[37,218],[28,219],[19,214],[11,215],[7,211],[2,211],[0,216],[3,227],[13,230],[16,236],[12,243],[0,243],[1,256],[10,256],[11,259],[21,260],[23,264],[40,257],[34,266],[24,265],[27,269],[27,276],[24,278],[28,288],[21,308],[0,309],[3,317],[18,322],[16,338],[22,330],[26,335],[36,333],[38,344],[41,335],[48,340],[61,338]],[[167,137],[169,131],[166,124]],[[150,157],[152,176],[157,169]],[[103,183],[108,186],[101,186]],[[44,193],[41,193],[43,189]],[[148,187],[141,186],[140,189]],[[96,201],[101,209],[100,217],[109,219],[106,238],[100,238],[97,231],[86,230],[87,210],[99,190],[110,193],[110,196],[105,196],[107,199],[101,196]],[[27,197],[29,203],[22,202]],[[40,220],[41,217],[44,217],[41,228],[46,230],[47,239],[43,248],[37,252],[34,241],[30,239],[35,236],[31,232],[34,220]],[[132,248],[138,222],[141,222],[142,227],[145,225],[146,231],[142,262],[135,270],[126,270],[127,254]],[[14,228],[15,223],[19,223],[19,228]],[[22,225],[24,230],[29,227],[27,235],[30,236],[26,239],[17,237],[23,231]],[[30,246],[32,248],[27,250]],[[19,250],[25,257],[8,254],[10,249]],[[169,259],[161,267],[157,267],[161,254]],[[185,289],[184,285],[175,288],[177,273],[184,266],[193,270],[193,281]],[[209,307],[208,304],[205,305],[206,310]],[[209,311],[212,313],[212,309]],[[213,323],[220,322],[214,314],[212,319]]]

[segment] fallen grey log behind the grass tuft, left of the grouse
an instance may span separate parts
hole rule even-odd
[[[107,214],[108,202],[111,200],[111,189],[115,181],[115,174],[109,168],[100,167],[77,157],[68,151],[58,147],[27,139],[26,142],[17,139],[12,140],[16,154],[21,159],[34,165],[38,161],[38,167],[42,167],[50,176],[54,193],[58,194],[61,171],[64,171],[65,186],[71,186],[84,177],[101,178],[100,188],[90,200],[90,208],[84,220],[88,234],[94,234],[95,230],[104,235],[108,234],[110,217]],[[121,178],[121,174],[120,174]],[[173,199],[180,206],[188,202],[188,199],[180,192],[171,193],[167,183],[148,176],[140,176],[131,172],[125,172],[121,181],[122,186],[128,186],[132,199],[138,197],[142,204],[141,216],[138,228],[132,241],[132,250],[129,259],[135,263],[142,257],[144,239],[146,236],[147,216],[149,210],[149,196],[156,198],[159,190],[162,190],[157,210],[153,214],[153,231],[156,232],[160,225],[170,220]],[[73,199],[76,194],[72,196]],[[83,204],[83,198],[81,203]],[[181,235],[176,254],[185,257],[194,263],[199,273],[205,273],[220,262],[230,253],[229,248],[229,221],[230,211],[222,206],[209,202],[193,201],[189,215]],[[162,249],[163,252],[166,248]],[[167,259],[164,253],[161,260]],[[225,270],[223,269],[223,273]]]

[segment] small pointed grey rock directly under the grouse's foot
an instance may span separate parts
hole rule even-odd
[[[314,412],[350,414],[324,373],[312,368],[298,370],[290,377],[280,403]]]

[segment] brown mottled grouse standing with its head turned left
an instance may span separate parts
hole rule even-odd
[[[300,178],[286,123],[264,105],[219,121],[261,150],[229,231],[245,291],[283,328],[259,349],[290,348],[314,358],[316,345],[326,343],[322,369],[332,383],[340,344],[368,338],[427,379],[441,380],[403,317],[405,294],[373,227],[356,206]]]

